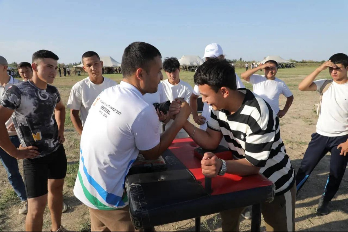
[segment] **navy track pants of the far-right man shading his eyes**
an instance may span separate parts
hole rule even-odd
[[[302,188],[319,161],[330,151],[330,173],[322,197],[325,201],[331,201],[340,187],[348,162],[348,156],[340,155],[337,146],[346,142],[347,139],[348,134],[337,137],[327,137],[317,133],[312,134],[312,140],[308,144],[300,168],[296,173],[297,191]]]

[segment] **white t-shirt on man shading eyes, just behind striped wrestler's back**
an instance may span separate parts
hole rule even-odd
[[[279,112],[279,96],[283,94],[286,98],[292,96],[292,92],[284,81],[278,79],[268,80],[264,75],[253,74],[250,76],[250,83],[253,85],[253,92],[267,101],[274,112]]]

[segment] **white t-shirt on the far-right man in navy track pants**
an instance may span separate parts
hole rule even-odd
[[[326,79],[314,81],[319,92]],[[348,134],[348,83],[332,82],[323,93],[317,133],[328,137]]]

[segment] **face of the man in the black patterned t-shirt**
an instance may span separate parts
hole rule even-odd
[[[52,58],[40,58],[32,64],[38,78],[47,84],[52,84],[57,75],[58,60]]]

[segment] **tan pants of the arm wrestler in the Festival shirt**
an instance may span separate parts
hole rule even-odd
[[[88,209],[91,231],[138,231],[130,221],[128,206],[116,210]]]

